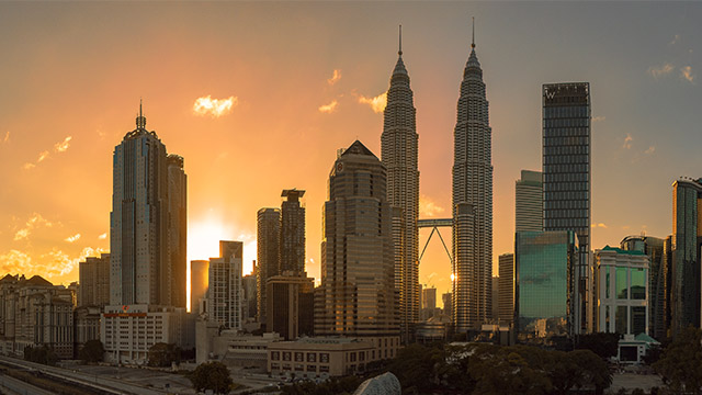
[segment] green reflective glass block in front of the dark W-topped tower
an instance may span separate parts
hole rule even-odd
[[[578,237],[574,232],[514,236],[516,317],[521,339],[575,335]]]

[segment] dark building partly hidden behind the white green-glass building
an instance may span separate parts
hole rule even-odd
[[[668,331],[669,295],[668,279],[670,276],[668,259],[666,259],[666,240],[650,236],[627,236],[620,247],[627,251],[639,251],[648,256],[648,335],[665,340]]]

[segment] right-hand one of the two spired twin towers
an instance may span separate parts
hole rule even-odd
[[[458,332],[492,311],[492,129],[475,40],[471,48],[454,129],[452,320]]]

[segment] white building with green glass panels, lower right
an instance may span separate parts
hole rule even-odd
[[[638,250],[607,246],[595,251],[597,331],[648,335],[648,262]]]

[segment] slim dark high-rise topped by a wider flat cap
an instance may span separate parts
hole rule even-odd
[[[285,271],[305,272],[305,206],[299,199],[305,191],[283,190],[286,200],[281,207],[280,268],[276,274]]]

